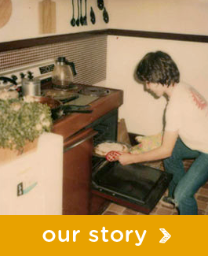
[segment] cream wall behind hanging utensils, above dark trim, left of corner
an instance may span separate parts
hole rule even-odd
[[[70,20],[72,17],[71,0],[53,0],[56,2],[57,10],[57,32],[56,34],[39,34],[38,24],[38,2],[40,0],[12,0],[13,11],[9,22],[0,28],[0,42],[8,42],[19,39],[31,39],[48,35],[60,35],[75,32],[85,32],[91,30],[105,29],[107,24],[104,23],[102,12],[97,8],[96,0],[88,0],[88,25],[72,27]],[[75,13],[76,3],[75,2]],[[82,0],[82,10],[84,13],[84,0]],[[96,24],[92,24],[89,17],[90,6],[93,6],[96,14]],[[77,17],[77,14],[75,14]]]

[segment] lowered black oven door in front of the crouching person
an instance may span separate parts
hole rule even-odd
[[[172,180],[146,165],[103,161],[93,169],[92,192],[141,213],[150,213]]]

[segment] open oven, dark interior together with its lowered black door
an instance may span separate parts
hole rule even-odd
[[[90,124],[97,135],[93,146],[116,141],[118,109]],[[146,165],[122,166],[93,156],[92,193],[142,213],[150,213],[168,187],[172,175]]]

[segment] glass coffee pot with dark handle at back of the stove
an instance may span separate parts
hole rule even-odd
[[[53,87],[64,89],[70,87],[73,82],[73,75],[77,74],[74,62],[69,62],[65,57],[57,58],[52,73]]]

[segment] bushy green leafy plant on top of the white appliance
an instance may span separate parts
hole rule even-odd
[[[51,128],[51,112],[46,104],[20,98],[0,100],[0,147],[21,151],[27,142]]]

